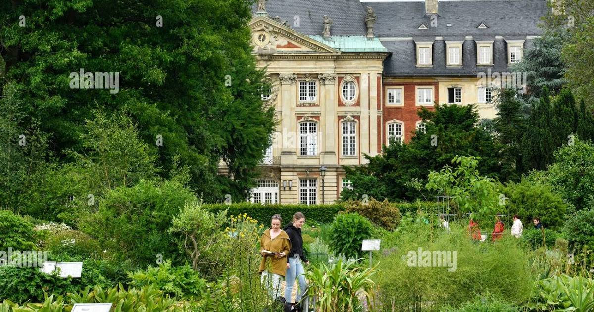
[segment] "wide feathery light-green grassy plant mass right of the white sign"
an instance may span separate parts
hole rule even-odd
[[[528,256],[520,241],[505,233],[497,242],[472,241],[466,225],[450,223],[451,232],[438,231],[430,225],[415,225],[398,235],[397,248],[378,254],[380,296],[384,310],[438,310],[456,306],[490,293],[521,304],[530,296],[533,279]],[[409,251],[456,251],[456,270],[448,267],[412,267]]]

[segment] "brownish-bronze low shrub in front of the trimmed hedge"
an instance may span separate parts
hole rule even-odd
[[[346,212],[359,213],[359,215],[364,216],[375,225],[381,226],[388,231],[396,228],[402,219],[400,210],[393,204],[390,204],[387,199],[378,201],[375,198],[371,198],[368,203],[351,199],[346,202]]]

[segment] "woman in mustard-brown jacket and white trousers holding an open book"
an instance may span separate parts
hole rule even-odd
[[[272,300],[280,297],[280,281],[287,272],[286,256],[291,249],[289,235],[282,229],[280,224],[283,219],[280,215],[272,216],[270,220],[270,229],[264,231],[260,239],[263,256],[260,263],[260,274],[262,275],[262,284],[268,288],[268,295]],[[266,252],[265,252],[266,251]]]

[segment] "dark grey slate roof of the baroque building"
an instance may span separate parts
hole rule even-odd
[[[375,40],[379,37],[391,52],[384,62],[384,74],[388,76],[476,75],[486,69],[476,67],[475,40],[492,40],[492,70],[508,71],[506,40],[526,40],[524,48],[528,48],[532,37],[541,34],[538,24],[549,11],[547,0],[441,1],[437,27],[431,27],[431,16],[425,15],[425,2],[420,1],[268,0],[266,4],[270,17],[279,16],[289,21],[292,29],[316,38],[322,34],[324,15],[334,22],[332,36],[365,36],[368,6],[377,15]],[[299,27],[293,26],[294,16],[299,16]],[[479,29],[481,23],[488,28]],[[421,24],[427,29],[418,29]],[[416,67],[415,41],[433,42],[432,68]],[[463,67],[445,66],[446,41],[463,42]]]

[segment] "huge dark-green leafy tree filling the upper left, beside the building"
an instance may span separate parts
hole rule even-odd
[[[264,71],[251,55],[251,2],[4,1],[0,84],[21,91],[21,126],[41,121],[62,163],[72,160],[66,150],[84,150],[93,109],[125,110],[159,151],[163,176],[181,155],[206,200],[245,198],[274,128],[258,92]],[[84,89],[94,84],[77,86],[80,71],[95,82],[95,73],[118,73],[118,84]],[[217,177],[220,159],[232,178]]]

